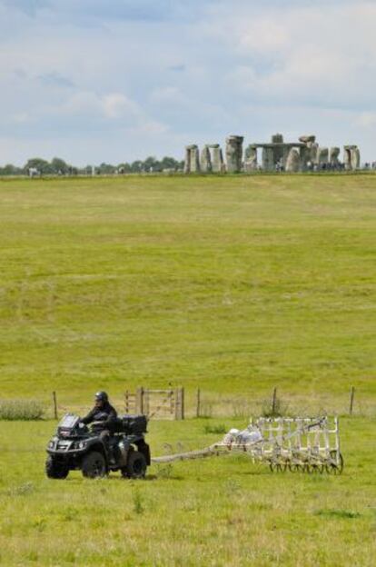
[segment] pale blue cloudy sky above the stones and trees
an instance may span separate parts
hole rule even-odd
[[[282,132],[376,160],[375,0],[0,0],[0,164]]]

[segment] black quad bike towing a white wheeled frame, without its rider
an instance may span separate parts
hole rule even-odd
[[[151,462],[144,440],[146,425],[144,415],[124,415],[112,424],[112,434],[106,439],[101,435],[103,422],[88,427],[79,416],[66,413],[47,445],[46,475],[65,479],[69,471],[78,469],[92,479],[112,471],[120,471],[124,478],[144,478]]]

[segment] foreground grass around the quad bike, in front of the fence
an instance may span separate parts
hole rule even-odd
[[[207,424],[151,423],[153,452],[222,437],[205,433]],[[0,564],[371,567],[375,426],[341,421],[341,477],[272,473],[239,455],[153,465],[145,481],[128,482],[115,473],[85,481],[79,472],[49,481],[45,443],[54,423],[1,423]]]

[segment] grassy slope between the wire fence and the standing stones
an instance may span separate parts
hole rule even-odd
[[[0,183],[5,397],[376,394],[376,176]]]

